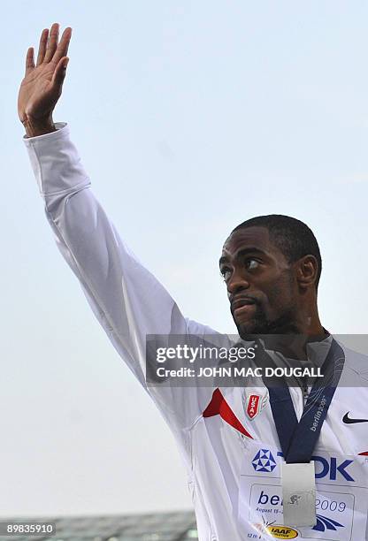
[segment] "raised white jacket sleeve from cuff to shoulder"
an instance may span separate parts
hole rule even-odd
[[[147,388],[147,334],[213,334],[181,315],[165,288],[146,270],[106,216],[65,124],[24,138],[58,249],[80,281],[90,307],[113,346],[173,425],[188,427],[211,398],[211,390]],[[190,400],[188,393],[191,393]]]

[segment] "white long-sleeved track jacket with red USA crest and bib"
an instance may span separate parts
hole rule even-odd
[[[344,348],[343,376],[361,385],[339,385],[314,451],[318,523],[314,528],[285,525],[280,442],[266,388],[146,385],[146,334],[216,331],[184,317],[126,247],[96,201],[68,126],[57,127],[54,133],[24,138],[46,217],[112,345],[173,431],[188,472],[200,540],[368,540],[368,423],[357,422],[368,419],[366,358]],[[302,391],[290,392],[299,419]]]

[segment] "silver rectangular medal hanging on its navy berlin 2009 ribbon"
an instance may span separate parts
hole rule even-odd
[[[333,340],[317,381],[298,423],[288,386],[269,387],[273,420],[284,462],[281,466],[284,524],[316,525],[316,484],[311,456],[328,408],[339,383],[343,362],[341,347]]]

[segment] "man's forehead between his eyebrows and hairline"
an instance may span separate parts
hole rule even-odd
[[[256,248],[270,255],[280,255],[280,249],[276,248],[270,240],[270,233],[266,227],[244,227],[231,233],[222,248],[222,256],[234,257],[236,253],[245,248]]]

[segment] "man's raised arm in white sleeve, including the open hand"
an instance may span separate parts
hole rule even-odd
[[[46,216],[58,248],[103,329],[126,364],[145,382],[147,334],[209,334],[210,328],[184,318],[165,288],[126,248],[90,189],[68,126],[54,125],[52,111],[65,78],[71,29],[58,43],[58,25],[42,32],[37,65],[27,52],[26,76],[19,91],[19,118],[26,127],[25,143],[35,172]],[[188,389],[150,390],[166,416],[188,423],[200,413],[203,400],[182,400]],[[165,405],[170,404],[169,408]],[[184,402],[184,403],[183,403]],[[169,411],[170,410],[170,411]],[[173,423],[173,419],[171,420]]]

